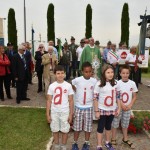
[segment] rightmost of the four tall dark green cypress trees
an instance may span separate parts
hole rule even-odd
[[[128,4],[124,3],[121,17],[121,42],[129,46],[129,13]]]

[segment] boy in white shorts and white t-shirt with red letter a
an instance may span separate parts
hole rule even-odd
[[[67,136],[73,115],[73,89],[70,83],[64,81],[63,66],[55,68],[56,81],[50,84],[47,92],[46,115],[54,136],[55,150],[66,150]],[[59,131],[62,133],[62,143],[59,144]]]

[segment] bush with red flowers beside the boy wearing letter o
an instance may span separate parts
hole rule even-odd
[[[150,132],[150,112],[134,112],[134,115],[131,115],[128,132],[141,133],[143,128]]]

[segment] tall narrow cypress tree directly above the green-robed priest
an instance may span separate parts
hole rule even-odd
[[[91,5],[88,4],[86,7],[86,32],[85,37],[92,37],[92,8]]]

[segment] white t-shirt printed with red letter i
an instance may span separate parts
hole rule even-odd
[[[75,106],[79,108],[93,107],[94,86],[97,80],[94,78],[85,79],[83,76],[72,80],[76,87]]]

